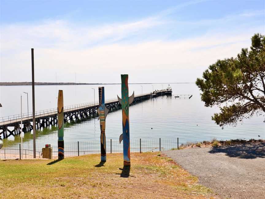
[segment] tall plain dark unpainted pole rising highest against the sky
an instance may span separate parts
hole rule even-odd
[[[32,118],[33,118],[33,158],[36,158],[36,121],[35,121],[35,80],[34,80],[34,49],[31,49],[32,71]]]

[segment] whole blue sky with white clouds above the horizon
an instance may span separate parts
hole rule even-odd
[[[265,34],[265,1],[0,0],[0,82],[195,82]]]

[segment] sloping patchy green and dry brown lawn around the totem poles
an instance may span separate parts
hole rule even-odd
[[[121,178],[122,154],[51,160],[0,161],[5,198],[210,198],[211,191],[158,153],[132,153],[129,178]]]

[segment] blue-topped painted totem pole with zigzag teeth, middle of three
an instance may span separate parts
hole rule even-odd
[[[105,93],[104,87],[98,87],[98,119],[100,122],[100,146],[101,146],[101,162],[106,162],[106,135],[105,135],[105,128],[106,128],[106,117],[108,115],[109,109],[105,107]]]

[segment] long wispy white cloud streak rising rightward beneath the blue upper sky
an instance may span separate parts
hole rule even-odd
[[[98,42],[113,42],[128,35],[165,24],[157,18],[145,18],[123,24],[107,24],[96,27],[78,26],[64,20],[48,20],[39,25],[5,25],[1,28],[1,50],[35,47],[88,47]]]

